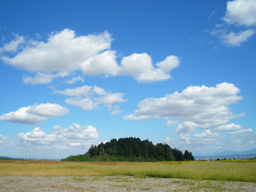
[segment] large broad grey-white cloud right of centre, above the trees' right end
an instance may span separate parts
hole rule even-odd
[[[182,93],[172,93],[162,98],[146,98],[138,104],[138,110],[126,115],[126,120],[146,120],[149,118],[174,118],[179,122],[175,132],[185,134],[196,128],[217,128],[224,130],[238,126],[227,125],[228,121],[241,115],[234,115],[228,108],[229,104],[236,104],[242,99],[235,85],[227,82],[217,84],[216,87],[205,85],[190,86]],[[167,121],[173,125],[175,121]],[[231,128],[232,127],[232,128]]]

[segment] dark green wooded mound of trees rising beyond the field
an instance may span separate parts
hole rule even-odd
[[[61,161],[194,161],[192,153],[184,153],[167,144],[154,145],[148,139],[139,138],[111,139],[110,142],[91,145],[83,155],[70,155]]]

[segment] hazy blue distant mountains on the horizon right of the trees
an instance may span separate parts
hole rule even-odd
[[[195,155],[195,158],[236,158],[236,157],[256,157],[256,148],[245,151],[225,150],[211,155]]]

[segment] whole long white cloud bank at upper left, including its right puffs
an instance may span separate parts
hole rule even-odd
[[[12,58],[4,55],[1,59],[17,69],[37,73],[35,77],[23,77],[23,81],[30,84],[49,83],[75,71],[92,76],[131,75],[138,82],[157,82],[170,79],[170,70],[179,64],[176,56],[167,56],[154,66],[147,53],[134,53],[122,58],[121,65],[118,65],[116,51],[110,50],[112,41],[108,31],[78,37],[75,31],[66,28],[52,33],[47,42],[25,41],[24,37],[16,36],[1,48],[0,53],[15,52],[20,44],[24,44],[23,50]],[[63,73],[66,75],[61,75]],[[77,80],[83,81],[81,77],[74,77],[66,82],[72,84]]]

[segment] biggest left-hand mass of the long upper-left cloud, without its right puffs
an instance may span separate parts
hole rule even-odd
[[[91,57],[110,48],[111,41],[106,31],[76,37],[75,31],[66,28],[52,34],[46,43],[33,41],[34,45],[28,45],[14,58],[4,57],[4,61],[27,72],[73,72]]]

